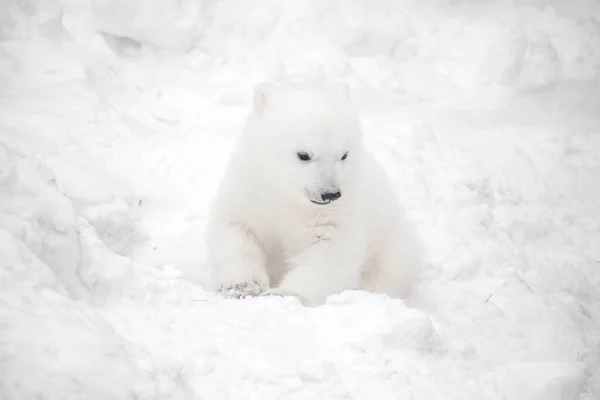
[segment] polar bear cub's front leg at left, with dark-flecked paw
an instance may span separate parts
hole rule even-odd
[[[216,224],[208,238],[209,260],[217,292],[240,298],[269,288],[266,255],[254,234],[242,226]]]

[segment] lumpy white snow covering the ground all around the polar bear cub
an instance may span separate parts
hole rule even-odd
[[[600,397],[592,0],[4,0],[0,399]],[[350,83],[412,299],[203,290],[262,80]]]

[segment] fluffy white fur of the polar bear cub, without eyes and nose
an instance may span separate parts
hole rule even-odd
[[[312,202],[337,190],[336,201]],[[342,84],[256,87],[206,238],[215,289],[233,297],[295,295],[318,305],[348,289],[403,296],[418,264]]]

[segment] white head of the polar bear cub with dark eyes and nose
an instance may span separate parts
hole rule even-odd
[[[260,84],[246,127],[273,200],[325,207],[357,187],[362,134],[347,85]]]

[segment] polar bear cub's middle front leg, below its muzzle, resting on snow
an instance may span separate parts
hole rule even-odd
[[[293,295],[305,305],[323,304],[327,296],[357,289],[363,263],[362,246],[348,241],[321,241],[292,257],[278,287],[265,295]]]

